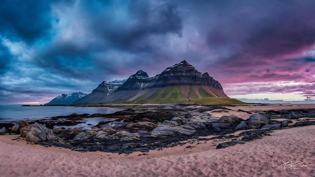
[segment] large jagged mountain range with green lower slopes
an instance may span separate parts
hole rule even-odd
[[[187,103],[209,97],[228,98],[217,80],[207,72],[202,74],[185,60],[153,77],[139,70],[121,86],[112,90],[107,89],[108,86],[100,85],[74,104],[114,102],[163,104]]]

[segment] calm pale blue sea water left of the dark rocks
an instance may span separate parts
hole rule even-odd
[[[106,107],[65,107],[65,106],[27,106],[0,105],[0,123],[37,120],[53,116],[77,114],[111,114],[122,109]]]

